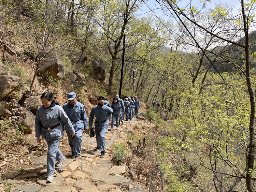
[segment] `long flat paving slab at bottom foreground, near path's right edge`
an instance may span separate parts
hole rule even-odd
[[[93,177],[91,178],[91,181],[93,182],[103,182],[103,183],[109,183],[109,184],[115,184],[120,186],[121,184],[130,184],[131,180],[122,178],[122,177],[117,177],[117,176],[110,176],[110,175],[103,175],[103,174],[94,174]]]

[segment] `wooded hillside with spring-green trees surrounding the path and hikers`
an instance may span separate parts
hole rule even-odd
[[[1,166],[34,134],[21,123],[34,98],[74,91],[88,114],[122,82],[121,98],[160,103],[145,114],[153,127],[127,135],[123,163],[141,163],[143,188],[256,191],[256,2],[236,1],[157,0],[163,19],[141,16],[144,0],[0,0]]]

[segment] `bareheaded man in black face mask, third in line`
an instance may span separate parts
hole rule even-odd
[[[113,109],[104,105],[104,97],[98,98],[98,105],[91,109],[89,117],[89,129],[93,128],[93,119],[95,116],[94,126],[97,141],[96,151],[101,151],[100,158],[105,157],[105,134],[108,129],[108,119],[112,114]]]

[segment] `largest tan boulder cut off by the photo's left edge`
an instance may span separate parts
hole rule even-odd
[[[0,75],[0,101],[12,94],[21,81],[22,79],[15,75]]]

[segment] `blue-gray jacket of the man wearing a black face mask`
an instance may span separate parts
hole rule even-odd
[[[93,108],[91,108],[91,113],[90,113],[90,117],[89,117],[89,126],[92,127],[93,126],[93,118],[95,116],[96,121],[98,122],[102,122],[101,125],[108,125],[108,120],[109,117],[112,114],[113,109],[111,109],[110,107],[103,105],[101,108],[98,105],[95,105]]]

